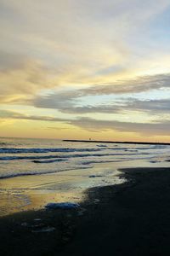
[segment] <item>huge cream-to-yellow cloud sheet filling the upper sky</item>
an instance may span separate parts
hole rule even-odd
[[[151,20],[168,6],[167,0],[147,5],[133,0],[2,0],[1,94],[32,96],[47,88],[82,84],[96,84],[90,89],[94,95],[134,91],[133,81],[132,86],[114,82],[124,73],[134,76],[132,70],[148,58],[147,52],[155,55],[144,28],[149,31]],[[148,42],[144,56],[139,43],[143,36]]]

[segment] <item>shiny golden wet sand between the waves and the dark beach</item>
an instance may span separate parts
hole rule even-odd
[[[112,163],[105,163],[88,169],[0,179],[0,217],[38,210],[51,201],[82,201],[85,189],[124,182],[118,173]]]

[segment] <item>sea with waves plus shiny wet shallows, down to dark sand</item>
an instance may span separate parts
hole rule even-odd
[[[74,200],[84,189],[126,182],[119,169],[169,167],[169,160],[169,145],[1,137],[0,216],[42,207],[40,198],[48,203],[49,194],[53,201]]]

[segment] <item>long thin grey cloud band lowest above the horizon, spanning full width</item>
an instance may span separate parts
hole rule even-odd
[[[0,112],[0,119],[27,119],[45,122],[62,122],[65,125],[73,125],[86,131],[117,131],[135,132],[144,136],[169,136],[170,120],[159,120],[153,123],[120,122],[115,120],[99,120],[91,118],[60,119],[48,116],[25,115],[12,111]],[[54,128],[53,128],[54,129]]]

